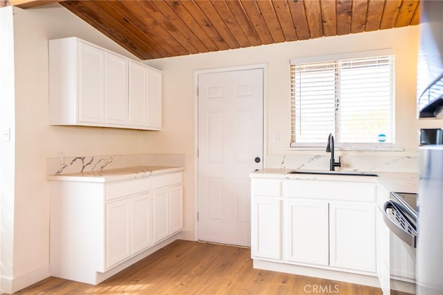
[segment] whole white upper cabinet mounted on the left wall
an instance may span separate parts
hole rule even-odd
[[[87,41],[49,41],[51,125],[161,130],[161,83],[161,71]]]

